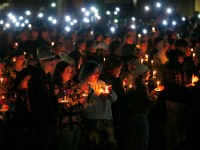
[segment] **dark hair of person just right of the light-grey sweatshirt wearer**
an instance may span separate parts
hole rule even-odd
[[[111,70],[118,68],[122,65],[123,65],[123,62],[119,58],[111,57],[111,58],[107,59],[105,61],[105,63],[103,64],[103,70],[106,71],[106,72],[109,71],[109,70],[111,71]]]

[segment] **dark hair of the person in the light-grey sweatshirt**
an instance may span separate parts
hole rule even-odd
[[[101,69],[101,65],[95,61],[88,61],[81,69],[79,74],[79,80],[85,80],[92,75],[96,68]]]

